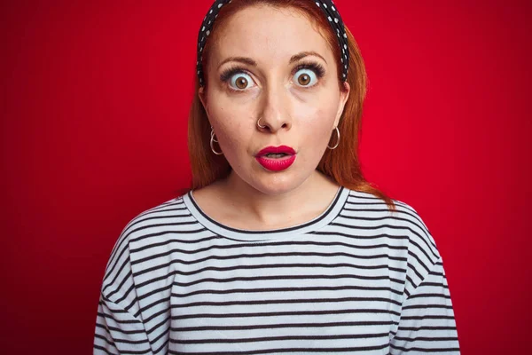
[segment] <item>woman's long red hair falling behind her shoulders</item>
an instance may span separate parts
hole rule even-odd
[[[340,90],[344,90],[341,84],[340,75],[340,46],[336,34],[333,32],[331,25],[327,22],[323,11],[319,9],[314,1],[310,0],[232,0],[230,4],[223,6],[218,17],[215,20],[212,32],[216,33],[216,28],[221,28],[223,22],[231,17],[232,14],[239,12],[247,6],[254,4],[268,4],[278,8],[293,8],[300,11],[309,21],[316,26],[317,30],[325,37],[329,44],[338,70],[338,83]],[[362,111],[364,98],[366,95],[367,76],[358,44],[354,36],[346,26],[348,35],[348,83],[351,87],[346,105],[340,117],[338,129],[340,130],[340,143],[335,149],[326,149],[321,161],[317,165],[317,170],[321,171],[339,185],[348,187],[364,193],[371,193],[374,196],[386,201],[389,209],[395,210],[394,201],[381,192],[372,183],[364,178],[358,154],[359,135],[362,127]],[[209,36],[203,47],[203,73],[205,76],[205,90],[207,90],[207,60],[209,58],[209,43],[215,36]],[[210,148],[210,124],[207,119],[205,108],[201,104],[197,94],[200,89],[199,79],[196,76],[195,94],[192,99],[192,106],[189,114],[188,125],[188,148],[190,162],[192,166],[192,184],[191,187],[183,191],[194,190],[206,185],[210,185],[215,180],[227,177],[231,172],[229,162],[223,155],[213,154]],[[336,135],[333,135],[336,136]],[[332,138],[335,144],[335,138]]]

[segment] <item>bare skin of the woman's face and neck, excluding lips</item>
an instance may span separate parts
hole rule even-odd
[[[219,141],[215,148],[232,170],[226,179],[193,191],[200,209],[223,225],[247,230],[284,228],[319,216],[340,186],[316,168],[331,137],[336,144],[332,130],[350,91],[348,83],[340,91],[331,49],[301,12],[268,5],[247,7],[211,36],[207,91],[200,88],[199,95]],[[308,55],[290,63],[305,51],[323,59]],[[253,59],[256,66],[224,62],[231,57]],[[311,68],[294,72],[303,62],[320,64],[325,75]],[[221,81],[226,69],[237,66],[246,71]],[[259,117],[267,128],[256,125]],[[256,162],[262,148],[281,145],[297,153],[287,170],[266,170]]]

